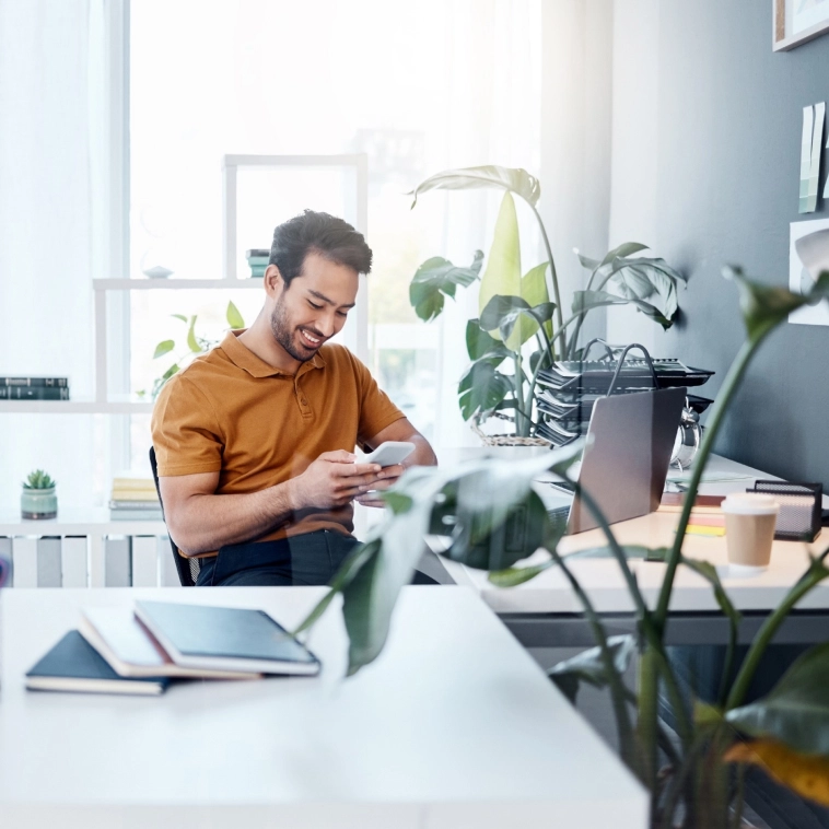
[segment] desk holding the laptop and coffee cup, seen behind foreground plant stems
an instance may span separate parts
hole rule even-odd
[[[712,458],[709,470],[719,475],[747,476],[731,481],[704,483],[702,492],[710,494],[726,494],[735,490],[745,490],[752,486],[754,479],[771,477],[751,467],[716,456]],[[542,497],[548,498],[548,484],[539,483],[537,489]],[[622,545],[669,547],[674,541],[674,529],[678,522],[679,515],[676,513],[652,513],[640,518],[615,524],[612,529]],[[571,553],[577,550],[605,547],[606,545],[607,540],[604,533],[600,529],[592,529],[564,538],[560,551]],[[688,536],[684,551],[689,558],[702,559],[717,565],[723,585],[735,606],[749,615],[751,611],[757,611],[758,618],[755,621],[751,621],[750,618],[746,620],[744,638],[750,638],[751,632],[759,624],[759,616],[774,608],[806,570],[808,551],[822,551],[827,545],[829,545],[829,538],[827,538],[826,533],[818,536],[813,545],[774,541],[770,567],[763,573],[750,577],[735,577],[728,574],[724,537]],[[546,558],[546,553],[537,553],[527,562],[522,563],[540,562]],[[541,627],[544,627],[538,624],[541,621],[540,617],[547,616],[557,622],[565,622],[568,617],[582,612],[577,598],[559,569],[551,568],[533,581],[517,587],[499,588],[488,581],[487,573],[483,571],[447,560],[442,561],[452,580],[457,584],[464,584],[478,591],[483,600],[507,621],[510,628],[524,644],[540,646],[553,643],[570,645],[592,642],[589,637],[584,641],[580,637],[573,639],[567,632],[567,626],[561,623],[558,626],[558,634],[564,637],[563,639],[556,639],[556,634],[550,639],[549,635],[542,635],[540,632]],[[612,616],[630,614],[633,610],[633,604],[615,560],[574,559],[570,567],[598,611]],[[631,560],[630,567],[637,576],[645,602],[652,607],[655,606],[665,573],[665,564]],[[804,611],[819,611],[815,619],[807,619],[807,621],[814,630],[815,637],[822,641],[826,638],[827,621],[829,621],[829,584],[818,585],[797,607]],[[670,609],[672,617],[677,620],[681,619],[684,614],[690,618],[690,616],[701,617],[707,614],[719,616],[720,612],[711,585],[702,576],[684,567],[680,567],[676,573]],[[699,621],[700,619],[697,618],[693,623],[697,624]],[[816,622],[817,627],[812,623],[813,621]],[[787,624],[792,629],[791,635],[794,641],[803,641],[803,626],[795,618]],[[674,629],[679,630],[679,626],[674,624]],[[551,630],[547,630],[548,634],[551,632]],[[689,629],[682,635],[687,637],[689,632],[692,631]],[[697,627],[696,632],[702,639],[681,639],[679,641],[687,643],[705,641],[710,635],[710,628],[702,624]],[[541,639],[544,642],[540,641]],[[554,642],[553,639],[556,639]]]

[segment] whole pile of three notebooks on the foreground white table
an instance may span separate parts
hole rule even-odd
[[[264,610],[136,602],[89,607],[26,674],[33,691],[157,696],[179,679],[315,676],[319,661]]]

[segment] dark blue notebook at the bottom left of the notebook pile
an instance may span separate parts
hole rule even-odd
[[[163,693],[166,677],[125,678],[77,631],[70,630],[27,674],[31,691],[90,693]]]

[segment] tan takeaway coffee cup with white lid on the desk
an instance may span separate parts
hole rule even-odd
[[[722,503],[728,565],[734,573],[756,573],[769,565],[780,504],[759,492],[734,492]]]

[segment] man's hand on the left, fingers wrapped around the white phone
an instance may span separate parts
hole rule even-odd
[[[345,449],[324,452],[302,475],[290,481],[293,509],[330,510],[345,506],[374,488],[383,475],[382,467],[377,464],[355,464],[355,457]]]

